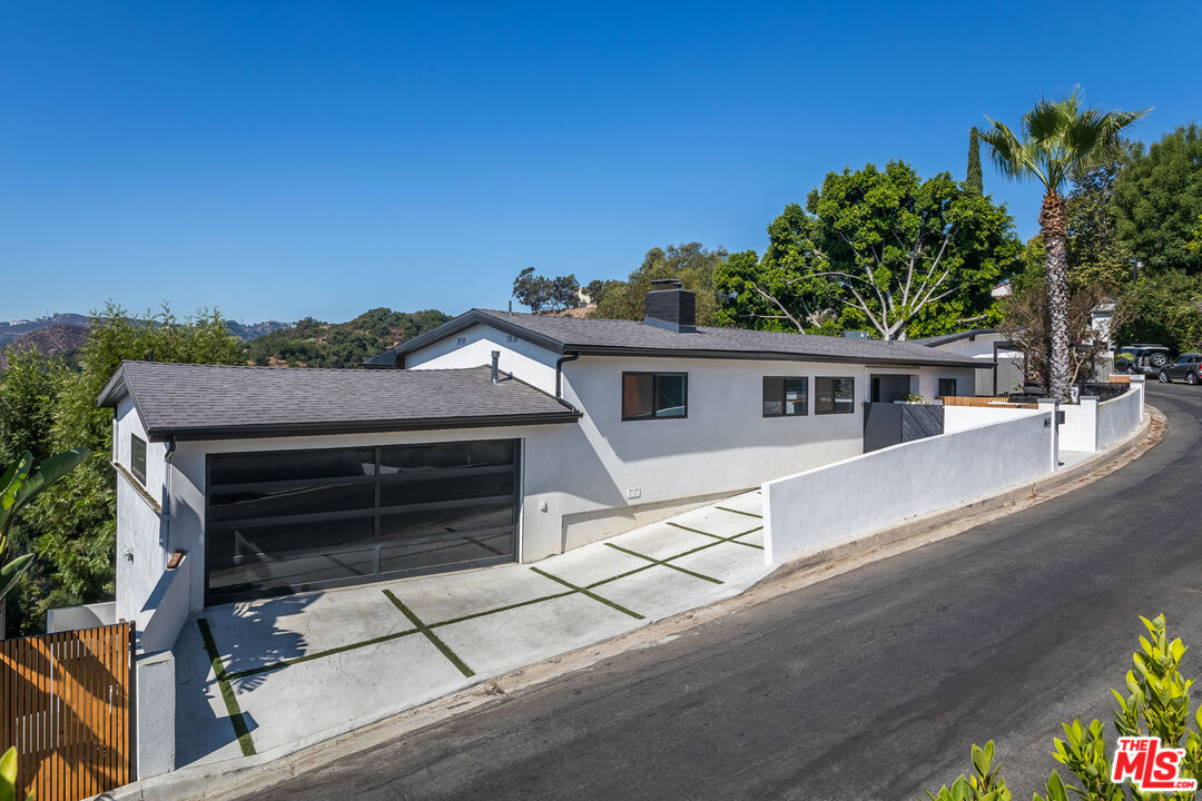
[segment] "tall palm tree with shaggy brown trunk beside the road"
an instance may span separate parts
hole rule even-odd
[[[1006,178],[1043,184],[1040,233],[1047,251],[1052,364],[1048,394],[1069,399],[1069,256],[1064,189],[1120,148],[1119,132],[1150,109],[1103,112],[1082,108],[1077,90],[1059,101],[1041,100],[1023,115],[1022,138],[1004,122],[980,132],[994,166]],[[988,118],[986,118],[988,119]]]

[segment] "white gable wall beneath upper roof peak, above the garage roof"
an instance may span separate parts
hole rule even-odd
[[[459,340],[464,342],[460,345]],[[492,364],[493,351],[500,351],[498,365],[528,384],[554,394],[555,361],[551,351],[531,345],[490,325],[472,325],[457,335],[405,355],[406,370],[448,370]]]

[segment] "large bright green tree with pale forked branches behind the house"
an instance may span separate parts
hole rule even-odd
[[[805,209],[768,226],[768,249],[719,273],[722,319],[752,328],[881,339],[959,330],[992,319],[989,289],[1019,267],[1004,207],[940,173],[868,165],[826,177]]]

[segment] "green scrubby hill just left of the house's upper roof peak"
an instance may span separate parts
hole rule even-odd
[[[441,311],[373,309],[346,323],[307,317],[246,343],[252,364],[290,367],[357,367],[367,359],[451,319]]]

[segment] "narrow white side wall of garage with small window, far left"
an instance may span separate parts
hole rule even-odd
[[[147,441],[147,480],[142,488],[160,508],[166,498],[166,444],[149,442],[142,420],[126,397],[117,407],[113,450],[117,471],[117,618],[133,620],[150,597],[171,554],[167,525],[133,485],[130,435]],[[126,554],[132,560],[126,557]]]

